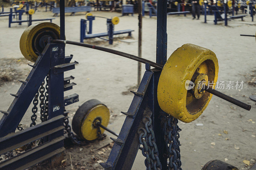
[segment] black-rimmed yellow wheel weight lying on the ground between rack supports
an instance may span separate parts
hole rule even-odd
[[[110,113],[108,107],[99,100],[92,99],[80,106],[72,120],[72,129],[79,137],[86,140],[98,138],[96,122],[100,122],[107,127]],[[100,128],[101,134],[104,129]]]

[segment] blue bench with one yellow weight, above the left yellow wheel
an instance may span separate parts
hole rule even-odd
[[[30,9],[28,11],[25,11],[25,10],[17,10],[16,12],[19,13],[19,19],[16,20],[16,21],[12,21],[12,8],[10,8],[10,14],[9,14],[9,28],[11,28],[11,24],[12,23],[19,23],[19,25],[21,25],[22,22],[28,22],[28,26],[31,26],[32,25],[32,22],[33,21],[46,21],[46,20],[50,20],[50,22],[52,22],[52,19],[55,19],[55,18],[46,18],[46,19],[32,19],[32,15],[35,13],[35,10],[34,9]],[[22,17],[22,14],[23,13],[26,13],[28,15],[28,20],[21,20],[21,17]]]

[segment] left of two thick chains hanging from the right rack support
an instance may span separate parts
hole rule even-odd
[[[156,138],[152,127],[150,116],[145,116],[142,121],[145,128],[138,129],[140,144],[143,145],[142,155],[146,157],[145,165],[148,170],[161,170],[162,165],[158,158],[158,150],[156,146]]]

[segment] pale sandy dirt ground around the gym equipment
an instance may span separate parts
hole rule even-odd
[[[8,11],[7,8],[5,8]],[[93,15],[113,17],[120,13],[93,11]],[[36,11],[32,18],[52,18],[52,12]],[[71,41],[80,40],[80,19],[85,18],[84,12],[76,13],[75,16],[66,14],[66,39]],[[26,16],[23,16],[26,19]],[[232,164],[239,169],[248,169],[243,163],[249,160],[250,165],[255,160],[256,153],[256,105],[249,99],[249,95],[256,94],[255,70],[255,38],[241,37],[239,34],[255,34],[256,22],[251,22],[249,16],[228,22],[229,26],[213,24],[213,16],[207,16],[207,24],[204,17],[200,20],[192,20],[191,15],[167,16],[168,49],[170,56],[174,50],[186,43],[196,44],[211,49],[219,61],[219,81],[244,81],[243,89],[223,89],[228,95],[252,105],[251,111],[246,111],[233,104],[213,96],[208,107],[198,119],[191,123],[180,122],[181,162],[184,170],[198,170],[214,159],[220,159]],[[60,24],[59,17],[53,19],[53,23]],[[23,60],[19,40],[22,32],[27,28],[27,23],[21,26],[14,23],[8,28],[8,17],[0,18],[0,75],[7,72],[11,76],[7,82],[2,82],[0,87],[0,110],[7,110],[13,97],[9,93],[16,93],[20,87],[17,78],[24,80],[31,67],[30,63]],[[137,55],[138,49],[138,16],[120,17],[120,22],[115,30],[134,29],[132,39],[117,37],[113,45],[101,39],[84,41],[85,43],[97,44],[108,48],[124,51]],[[96,18],[93,21],[93,33],[106,32],[106,20]],[[142,35],[143,58],[156,60],[156,17],[143,18]],[[137,62],[108,54],[93,49],[66,45],[66,55],[73,54],[73,61],[79,64],[75,70],[65,72],[65,77],[70,75],[76,77],[73,82],[77,85],[73,90],[65,92],[65,95],[79,94],[79,102],[67,107],[72,119],[79,105],[87,100],[98,99],[105,103],[111,110],[111,118],[108,128],[118,133],[122,127],[125,116],[121,111],[127,111],[133,95],[124,95],[137,83]],[[19,61],[20,60],[20,61]],[[8,61],[8,62],[6,62]],[[11,63],[10,63],[11,61]],[[8,70],[8,67],[9,70]],[[142,65],[142,70],[145,66]],[[13,71],[15,72],[14,75]],[[143,75],[143,72],[141,75]],[[248,83],[251,82],[251,83]],[[31,106],[22,119],[22,127],[27,128],[30,124]],[[2,115],[0,115],[0,118]],[[38,119],[37,123],[40,123]],[[203,126],[198,126],[201,123]],[[112,144],[108,135],[102,141],[95,141],[86,146],[69,146],[64,152],[65,159],[62,166],[50,167],[48,169],[102,169],[99,162],[106,161]],[[108,145],[107,145],[108,144]],[[102,146],[103,149],[99,149]],[[98,150],[97,150],[98,149]],[[100,152],[101,151],[101,152]],[[144,157],[139,151],[134,162],[133,170],[145,169]],[[47,162],[45,163],[47,165]],[[44,167],[44,166],[43,166]],[[42,169],[36,166],[34,169]]]

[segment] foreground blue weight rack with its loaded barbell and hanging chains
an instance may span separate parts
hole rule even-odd
[[[70,80],[74,77],[64,78],[63,72],[74,69],[77,64],[76,61],[70,63],[73,55],[65,56],[66,44],[97,49],[146,64],[138,90],[132,92],[134,97],[131,106],[127,112],[122,112],[126,115],[123,127],[116,134],[117,139],[111,138],[115,143],[108,160],[100,163],[106,170],[131,169],[140,144],[143,145],[143,155],[147,157],[145,165],[148,169],[181,169],[178,119],[184,122],[195,120],[202,114],[212,94],[250,110],[250,105],[218,92],[213,89],[214,85],[207,84],[207,79],[216,81],[218,76],[217,58],[211,50],[185,44],[174,51],[166,62],[167,11],[163,8],[166,5],[166,1],[158,1],[156,63],[109,48],[66,41],[64,0],[60,0],[60,27],[53,23],[37,23],[28,27],[20,38],[20,49],[25,58],[35,63],[31,65],[28,78],[20,80],[22,85],[19,91],[11,94],[15,99],[9,109],[1,111],[4,115],[0,121],[0,154],[9,153],[10,157],[0,162],[0,168],[26,169],[64,151],[64,129],[74,143],[81,144],[70,131],[68,111],[65,110],[65,106],[79,101],[76,93],[64,97],[64,91],[72,89],[74,84]],[[180,58],[185,62],[175,65]],[[189,59],[192,59],[191,62]],[[151,69],[151,66],[155,68]],[[172,84],[168,84],[170,80]],[[184,80],[194,84],[202,80],[202,83],[196,84],[198,89],[185,90],[185,83],[182,84]],[[188,100],[182,99],[179,103],[177,100],[180,99],[174,95],[177,91],[184,92],[178,95]],[[173,96],[176,97],[174,100]],[[31,127],[22,130],[20,121],[32,101]],[[173,107],[170,102],[173,102]],[[35,122],[37,105],[40,106],[42,121],[39,124]],[[185,112],[186,106],[188,110]],[[84,103],[74,116],[74,122],[79,122],[74,127],[77,135],[88,140],[101,136],[103,127],[106,128],[108,124],[108,116],[108,109],[98,100]],[[90,122],[87,121],[89,117],[92,120]],[[17,128],[20,131],[13,133]],[[36,141],[38,146],[33,146]],[[21,146],[28,150],[13,155],[13,151]],[[206,169],[220,164],[216,162],[208,162]]]

